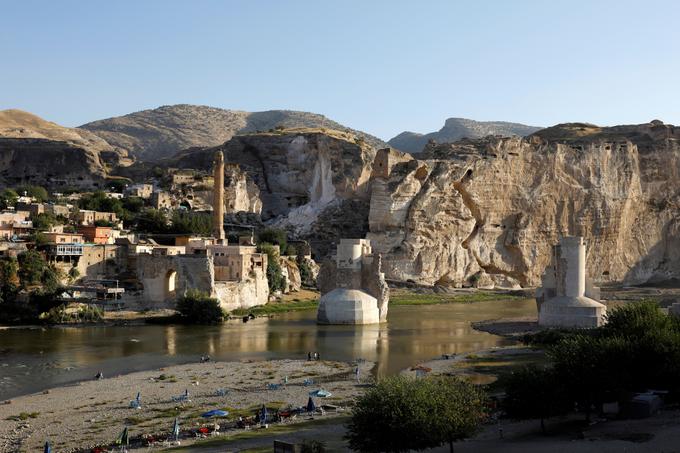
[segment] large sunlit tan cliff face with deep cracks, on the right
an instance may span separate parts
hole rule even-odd
[[[388,278],[423,284],[535,286],[566,235],[588,242],[597,282],[677,278],[678,140],[660,122],[567,124],[429,146],[422,160],[381,151],[367,237]]]

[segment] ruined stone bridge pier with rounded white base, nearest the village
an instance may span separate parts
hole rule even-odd
[[[319,324],[376,324],[387,320],[389,288],[382,258],[368,239],[341,239],[336,254],[323,263]]]

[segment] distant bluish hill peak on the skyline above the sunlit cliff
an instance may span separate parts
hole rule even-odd
[[[401,151],[419,153],[430,140],[436,143],[451,143],[462,138],[482,138],[487,135],[502,135],[504,137],[518,135],[523,137],[539,129],[539,127],[504,121],[474,121],[465,118],[449,118],[444,123],[444,127],[437,132],[430,132],[429,134],[402,132],[387,143]]]

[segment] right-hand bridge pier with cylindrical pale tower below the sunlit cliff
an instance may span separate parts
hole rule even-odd
[[[586,277],[586,245],[582,237],[562,237],[553,247],[551,264],[536,292],[538,324],[549,327],[598,327],[606,307],[600,290]]]

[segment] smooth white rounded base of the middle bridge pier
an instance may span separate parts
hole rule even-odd
[[[320,324],[376,324],[378,301],[360,290],[336,288],[321,296],[317,319]]]

